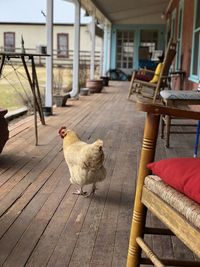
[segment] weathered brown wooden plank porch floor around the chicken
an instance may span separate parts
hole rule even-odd
[[[0,266],[125,266],[144,114],[127,101],[128,83],[69,101],[39,126],[33,118],[10,125],[0,155]],[[72,194],[58,129],[87,142],[104,140],[107,179],[92,198]],[[181,128],[180,128],[181,130]],[[194,135],[158,140],[157,158],[192,156]],[[149,223],[156,223],[149,216]],[[159,255],[193,258],[174,237],[149,237]]]

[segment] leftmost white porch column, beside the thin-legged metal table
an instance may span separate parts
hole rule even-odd
[[[46,91],[45,91],[45,115],[52,115],[52,88],[53,88],[53,0],[46,1]]]

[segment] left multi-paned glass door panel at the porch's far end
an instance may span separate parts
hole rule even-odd
[[[117,31],[117,68],[133,67],[134,32]]]

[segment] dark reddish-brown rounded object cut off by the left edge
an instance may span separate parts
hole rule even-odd
[[[4,117],[6,113],[6,109],[0,108],[0,153],[9,138],[8,123]]]

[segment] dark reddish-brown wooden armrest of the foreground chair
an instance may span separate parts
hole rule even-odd
[[[200,120],[200,112],[191,111],[184,108],[174,108],[160,104],[153,104],[144,99],[137,100],[136,108],[138,111],[143,111],[154,115],[169,115],[177,118]]]

